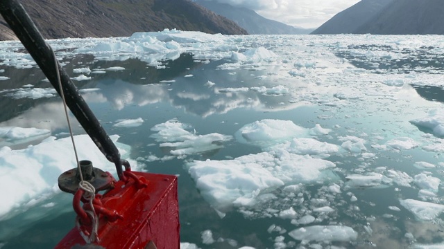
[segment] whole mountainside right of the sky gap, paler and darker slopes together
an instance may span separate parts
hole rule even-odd
[[[443,0],[361,0],[311,34],[444,35]]]

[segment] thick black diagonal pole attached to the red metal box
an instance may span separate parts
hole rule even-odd
[[[51,46],[44,41],[42,34],[22,4],[16,0],[0,0],[0,13],[60,95],[56,72],[56,66],[58,66],[67,106],[105,157],[116,165],[119,179],[123,180],[125,177],[119,150],[78,93],[65,70],[58,62],[55,62]]]

